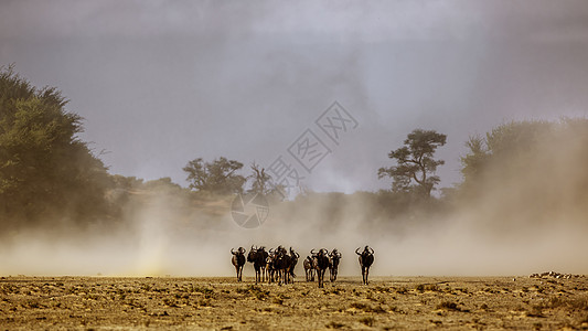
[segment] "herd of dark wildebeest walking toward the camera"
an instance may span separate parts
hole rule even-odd
[[[359,255],[360,267],[362,269],[363,284],[367,285],[367,276],[370,274],[370,267],[374,263],[374,249],[370,246],[365,246],[363,252],[361,248],[355,249],[355,254]],[[296,277],[293,270],[300,258],[300,254],[290,247],[289,252],[281,245],[277,248],[270,248],[266,250],[265,246],[254,247],[249,249],[247,258],[245,258],[246,249],[239,247],[237,250],[231,248],[233,254],[232,263],[235,266],[237,273],[237,281],[242,281],[243,267],[245,260],[253,264],[255,269],[255,284],[267,281],[282,284],[293,284]],[[334,248],[329,252],[325,248],[321,248],[318,252],[316,249],[310,250],[310,255],[303,261],[306,280],[314,281],[314,275],[319,282],[319,287],[324,287],[324,274],[329,269],[331,282],[336,280],[339,271],[339,263],[341,261],[342,254]]]

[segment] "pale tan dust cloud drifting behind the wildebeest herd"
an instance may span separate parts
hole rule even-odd
[[[311,192],[270,205],[267,221],[247,229],[233,222],[229,199],[196,207],[190,195],[156,191],[125,206],[121,226],[4,234],[0,274],[232,276],[231,248],[252,245],[293,247],[299,280],[303,258],[322,247],[343,254],[340,275],[360,275],[354,250],[365,245],[375,249],[372,275],[586,274],[581,122],[555,124],[517,149],[495,149],[474,185],[432,206],[383,192]],[[247,264],[245,276],[253,275]]]

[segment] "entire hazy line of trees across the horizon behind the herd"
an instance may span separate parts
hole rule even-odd
[[[169,178],[145,182],[113,175],[82,141],[82,118],[65,110],[67,100],[56,88],[35,88],[14,73],[0,71],[0,226],[35,224],[117,224],[126,206],[149,203],[146,196],[171,196],[178,209],[226,205],[236,193],[280,196],[266,169],[218,158],[196,158],[183,168],[189,188]],[[357,222],[409,220],[459,209],[480,211],[498,220],[546,220],[588,212],[588,120],[513,121],[466,141],[461,158],[463,180],[440,189],[435,158],[445,146],[442,134],[415,129],[404,146],[391,147],[391,163],[377,171],[389,181],[379,192],[303,192],[282,211],[316,205],[325,228],[336,223],[341,206],[364,206]],[[275,201],[281,199],[275,199]],[[320,204],[318,204],[320,202]],[[216,204],[218,206],[218,204]],[[359,207],[357,207],[359,209]],[[214,213],[212,213],[214,214]],[[285,213],[287,215],[288,213]],[[509,222],[509,221],[506,221]],[[538,222],[538,221],[537,221]]]

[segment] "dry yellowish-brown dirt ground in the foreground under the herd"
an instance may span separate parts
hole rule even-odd
[[[0,328],[18,329],[588,329],[588,278],[2,277]]]

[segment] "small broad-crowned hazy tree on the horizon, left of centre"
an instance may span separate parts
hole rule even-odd
[[[229,194],[243,192],[246,179],[235,173],[242,168],[243,163],[226,158],[218,158],[212,162],[204,162],[199,158],[188,162],[183,170],[188,172],[190,189]]]

